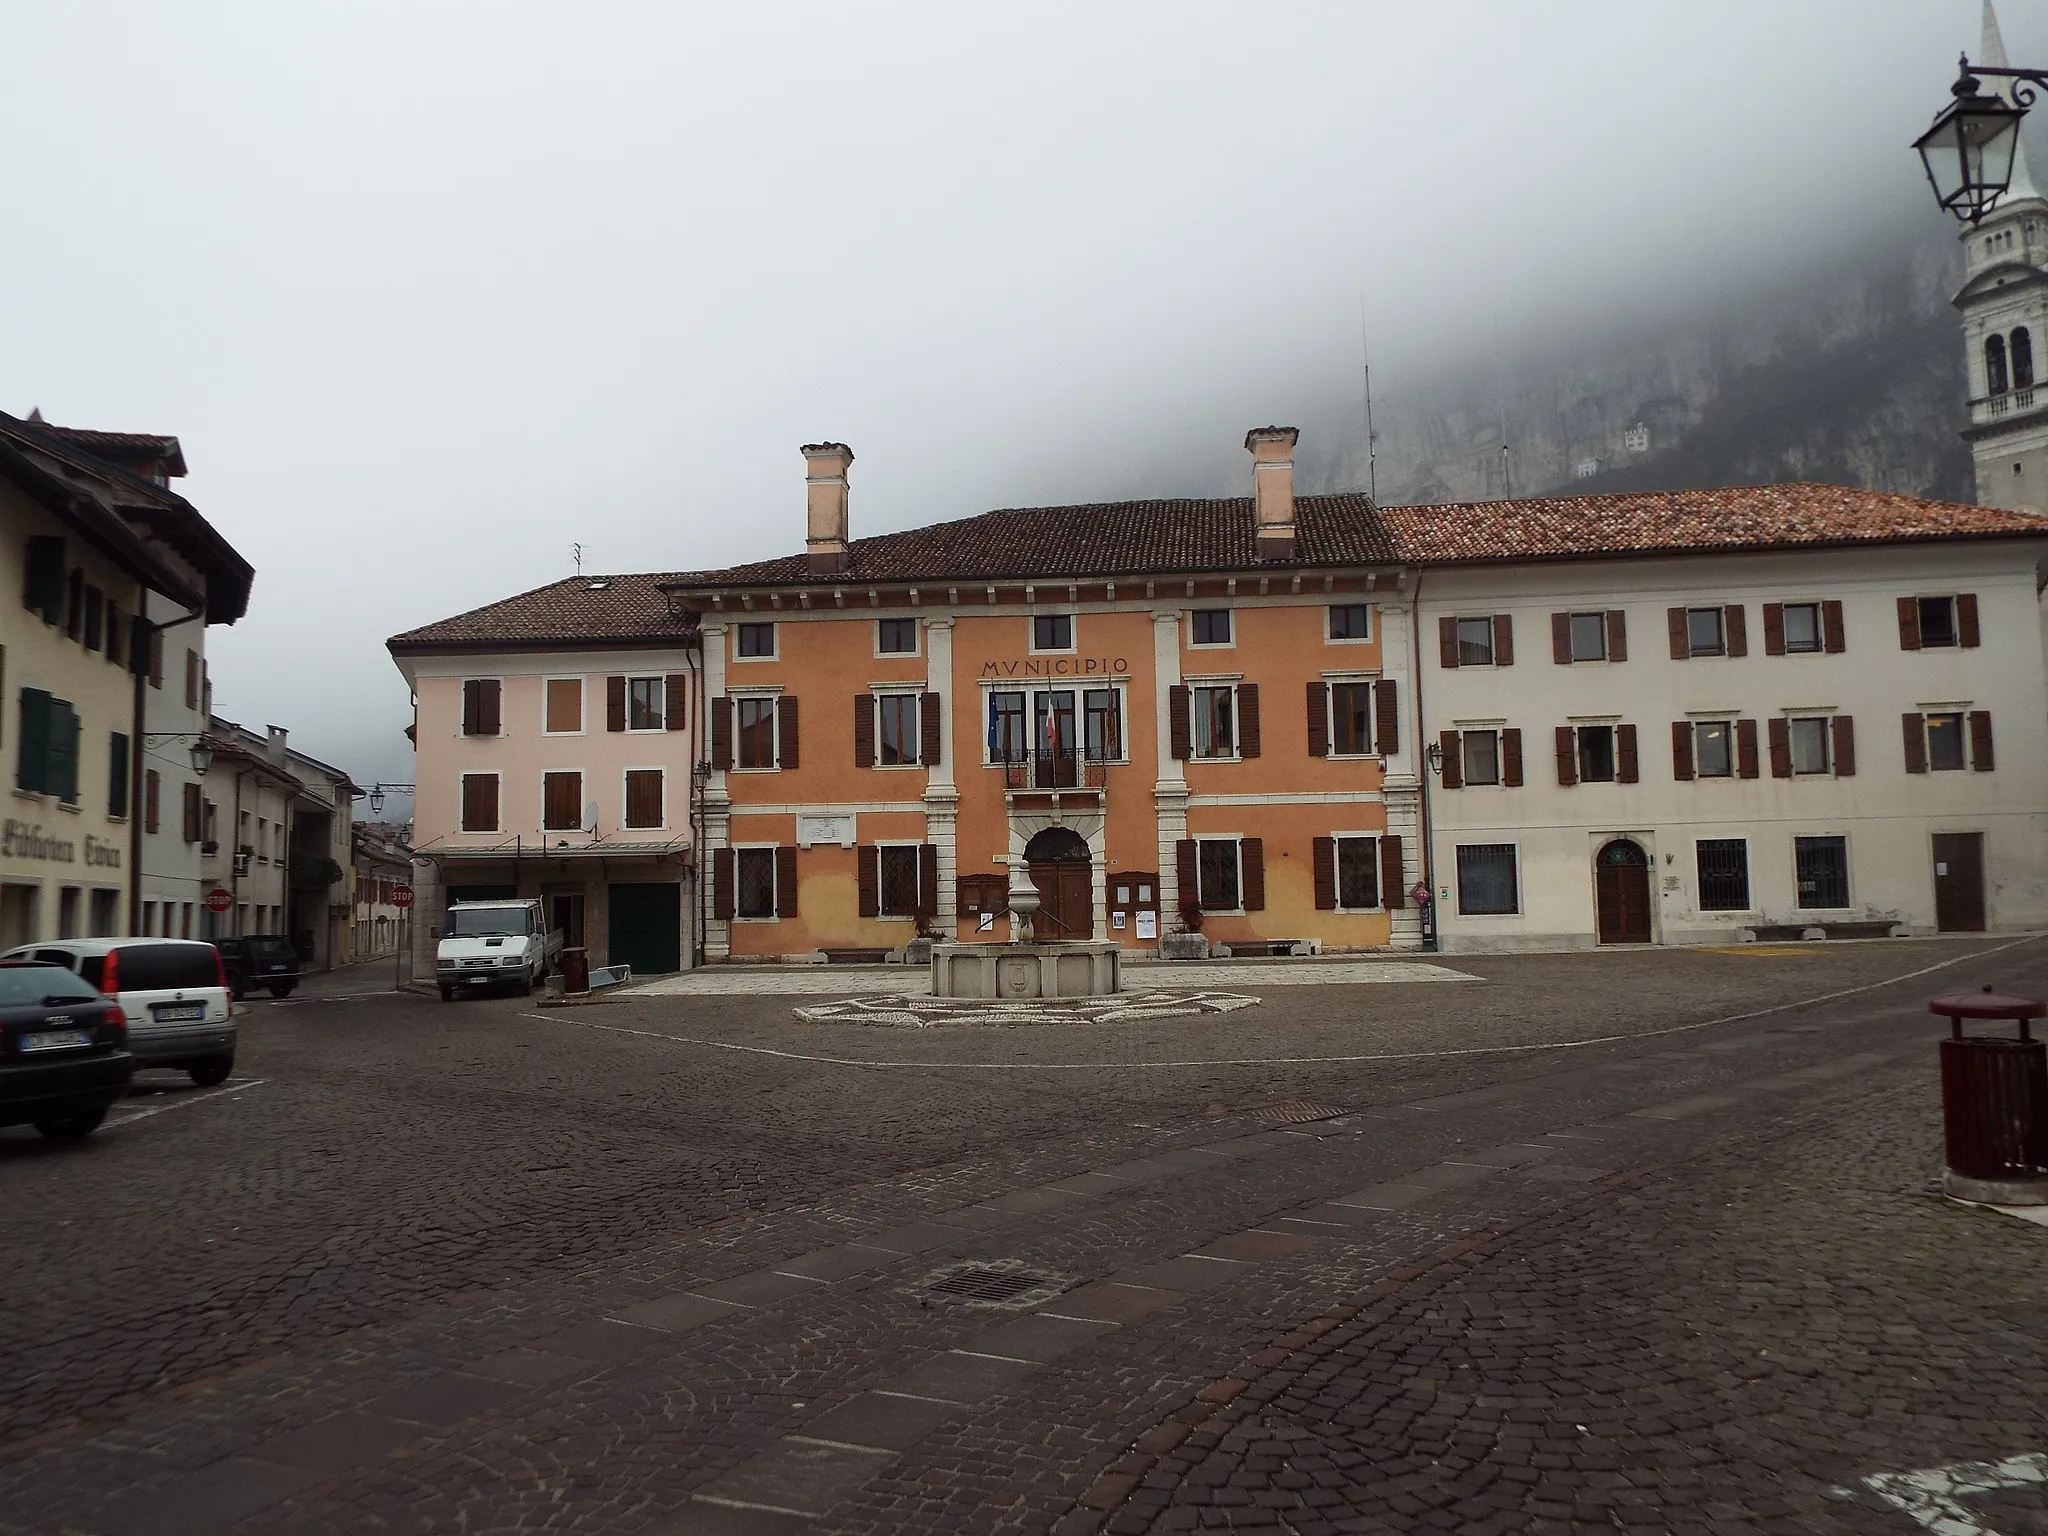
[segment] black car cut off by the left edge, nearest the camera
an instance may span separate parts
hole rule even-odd
[[[133,1075],[113,997],[61,965],[0,965],[0,1124],[90,1137]]]

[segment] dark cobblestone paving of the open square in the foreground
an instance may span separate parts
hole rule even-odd
[[[0,1135],[0,1532],[1905,1536],[1962,1464],[2048,1530],[2048,1231],[1923,1192],[1925,997],[2048,944],[1458,969],[256,1004],[223,1090]]]

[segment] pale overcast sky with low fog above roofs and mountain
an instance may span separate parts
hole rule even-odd
[[[2011,57],[2048,16],[2007,4]],[[0,4],[0,406],[176,432],[221,713],[412,778],[399,629],[1249,485],[1241,438],[1925,217],[1976,0]]]

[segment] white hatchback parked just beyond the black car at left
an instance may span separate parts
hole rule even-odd
[[[0,954],[74,971],[121,1006],[135,1067],[188,1071],[201,1087],[236,1069],[221,952],[197,938],[59,938]]]

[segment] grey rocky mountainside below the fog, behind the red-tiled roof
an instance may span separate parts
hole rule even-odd
[[[1376,412],[1389,506],[1819,479],[1972,500],[1950,231],[1858,272],[1554,352]],[[1503,471],[1501,410],[1507,418]],[[1321,465],[1364,485],[1364,428]]]

